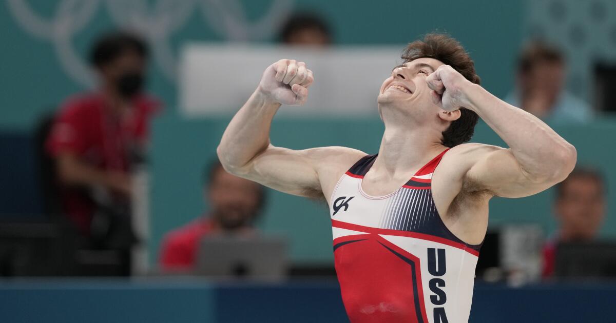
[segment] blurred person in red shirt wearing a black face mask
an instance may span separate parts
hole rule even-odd
[[[142,92],[147,46],[136,36],[104,34],[91,49],[98,86],[68,98],[55,116],[47,151],[55,160],[62,213],[94,249],[128,250],[131,169],[160,104]]]

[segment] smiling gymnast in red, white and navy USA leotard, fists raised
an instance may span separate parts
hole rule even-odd
[[[402,58],[379,91],[385,132],[378,154],[270,143],[278,108],[306,102],[314,80],[305,63],[286,59],[265,70],[217,152],[230,173],[325,197],[352,322],[468,322],[488,201],[564,180],[577,153],[540,119],[479,86],[455,39],[428,34]],[[478,118],[509,148],[465,143]]]

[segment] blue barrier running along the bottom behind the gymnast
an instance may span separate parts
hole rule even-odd
[[[476,284],[472,323],[614,322],[616,283]],[[0,322],[348,322],[335,281],[285,284],[66,280],[0,282]],[[456,322],[456,321],[451,321]]]

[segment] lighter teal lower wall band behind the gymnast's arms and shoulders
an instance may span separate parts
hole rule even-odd
[[[152,241],[156,254],[162,234],[206,210],[201,198],[201,170],[214,157],[217,142],[228,120],[185,121],[167,118],[156,123],[152,155]],[[383,134],[379,120],[275,120],[272,143],[293,149],[315,146],[349,146],[376,153]],[[578,150],[578,164],[604,170],[608,187],[616,183],[612,138],[616,122],[600,121],[591,126],[555,128]],[[504,146],[484,123],[477,126],[473,142]],[[552,191],[523,199],[495,197],[490,202],[490,225],[538,223],[554,229]],[[616,191],[609,191],[609,215],[602,234],[616,236]],[[291,259],[296,263],[331,261],[331,223],[326,205],[302,197],[269,190],[269,201],[259,226],[266,232],[286,233],[291,238]]]

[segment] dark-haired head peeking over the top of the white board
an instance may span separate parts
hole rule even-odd
[[[330,27],[314,14],[294,14],[280,31],[280,42],[288,45],[325,47],[331,44]]]

